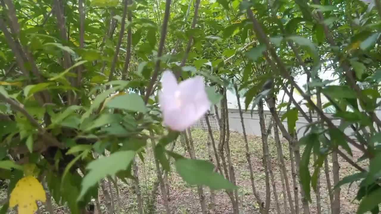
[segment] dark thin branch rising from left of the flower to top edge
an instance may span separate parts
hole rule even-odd
[[[147,102],[148,102],[149,96],[152,93],[152,88],[154,87],[154,84],[157,80],[157,76],[159,74],[160,62],[161,62],[160,57],[163,54],[166,31],[167,31],[168,20],[169,20],[169,15],[170,15],[170,8],[171,8],[171,0],[166,0],[165,1],[165,13],[164,13],[164,19],[163,19],[163,26],[162,26],[162,32],[160,34],[160,42],[159,42],[159,48],[157,51],[157,59],[156,59],[155,70],[154,70],[154,73],[152,74],[150,83],[149,83],[147,91],[146,91],[146,97],[144,99],[145,104],[147,104]]]

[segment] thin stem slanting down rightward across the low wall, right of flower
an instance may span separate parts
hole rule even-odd
[[[247,141],[247,135],[246,135],[246,129],[245,129],[245,123],[243,121],[243,113],[242,113],[242,108],[241,108],[241,102],[240,102],[240,97],[238,93],[238,88],[237,85],[234,85],[235,89],[235,96],[237,97],[237,102],[238,102],[238,110],[239,110],[239,115],[241,118],[241,125],[242,125],[242,133],[243,133],[243,139],[245,140],[245,150],[246,150],[246,160],[249,165],[249,171],[250,171],[250,182],[251,182],[251,188],[253,190],[253,194],[257,200],[258,206],[259,206],[259,212],[261,214],[264,214],[264,202],[262,201],[261,196],[256,190],[255,183],[254,183],[254,173],[253,173],[253,167],[251,166],[251,158],[250,158],[250,151],[249,151],[249,144]]]

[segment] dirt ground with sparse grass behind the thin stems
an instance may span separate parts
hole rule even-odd
[[[218,142],[219,133],[214,133],[216,143]],[[192,137],[194,140],[195,146],[195,154],[196,157],[203,160],[208,160],[208,134],[206,131],[202,131],[200,129],[192,130]],[[248,142],[251,153],[251,162],[253,166],[254,179],[257,191],[259,195],[264,197],[266,196],[265,190],[265,182],[264,182],[264,168],[262,164],[262,142],[261,137],[257,136],[248,136]],[[280,209],[282,213],[285,213],[283,198],[287,197],[287,195],[282,194],[282,182],[280,179],[280,171],[277,163],[277,153],[273,139],[269,139],[269,147],[270,147],[270,157],[272,163],[272,169],[275,176],[277,196],[280,203]],[[235,175],[237,179],[237,185],[239,186],[239,209],[240,214],[259,214],[258,212],[258,204],[256,203],[255,196],[253,195],[250,183],[250,172],[248,169],[248,164],[245,156],[245,142],[243,139],[243,135],[240,133],[231,132],[230,134],[230,148],[231,148],[231,159],[233,162],[233,166],[235,169]],[[288,180],[290,182],[290,186],[293,187],[292,177],[291,177],[291,165],[290,165],[290,156],[288,150],[288,142],[282,141],[282,149],[283,155],[285,158],[286,168],[288,172]],[[175,152],[179,154],[185,155],[188,157],[186,151],[181,146],[179,142],[176,143]],[[360,157],[361,154],[354,153],[354,160]],[[312,159],[311,159],[311,162]],[[346,163],[344,160],[339,159],[340,164],[340,178],[344,176],[350,175],[356,172],[350,164]],[[365,163],[363,163],[365,164]],[[332,166],[331,162],[329,163]],[[138,160],[138,168],[139,168],[139,180],[140,180],[140,189],[142,193],[143,200],[146,202],[147,199],[151,196],[152,188],[154,186],[154,182],[157,180],[157,176],[155,173],[153,162],[153,154],[148,149],[146,153],[146,159],[144,163]],[[311,165],[312,166],[312,165]],[[174,166],[171,166],[173,169],[170,174],[168,174],[168,183],[170,184],[170,209],[172,214],[199,214],[201,213],[200,203],[197,194],[197,188],[186,184],[181,177],[178,176],[176,171],[174,170]],[[311,168],[312,169],[312,168]],[[310,170],[311,171],[311,170]],[[331,183],[333,184],[333,174],[332,169],[330,167],[330,178]],[[137,212],[137,200],[135,195],[135,190],[133,187],[133,183],[130,181],[128,184],[125,184],[118,181],[119,188],[119,201],[117,200],[117,194],[114,190],[114,198],[115,204],[119,204],[117,206],[116,213],[128,213],[134,214]],[[341,213],[342,214],[352,214],[357,210],[357,206],[359,204],[358,201],[354,200],[356,195],[357,184],[352,184],[351,188],[348,188],[349,185],[344,185],[341,188]],[[320,188],[321,188],[321,205],[322,205],[322,213],[330,214],[330,206],[329,206],[329,192],[327,190],[327,180],[324,173],[320,174]],[[313,191],[313,190],[311,190]],[[204,188],[205,199],[207,204],[210,202],[210,191],[207,187]],[[3,194],[4,195],[4,192]],[[2,198],[0,195],[0,198]],[[293,190],[291,190],[291,195],[293,196]],[[311,192],[312,203],[310,203],[311,213],[317,213],[316,203],[315,203],[315,193]],[[99,195],[99,199],[101,201],[101,210],[102,213],[107,213],[106,204],[104,203],[104,196],[102,194]],[[299,196],[300,199],[300,196]],[[59,207],[54,204],[56,213],[65,213],[64,207]],[[146,204],[144,206],[147,208]],[[299,202],[299,213],[304,213],[301,208],[301,202]],[[288,208],[288,203],[287,203]],[[289,208],[288,208],[289,209]],[[43,208],[42,208],[43,211]],[[8,210],[8,213],[12,211]],[[156,195],[156,209],[155,213],[164,214],[165,209],[163,206],[163,200],[160,193],[160,188]],[[232,213],[231,201],[227,194],[223,191],[216,192],[216,214],[230,214]],[[270,214],[277,213],[274,203],[274,193],[271,194],[271,209]]]

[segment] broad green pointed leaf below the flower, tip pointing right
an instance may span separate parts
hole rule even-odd
[[[181,158],[175,162],[179,175],[190,185],[206,185],[211,189],[234,189],[234,184],[213,172],[214,165],[209,161]]]

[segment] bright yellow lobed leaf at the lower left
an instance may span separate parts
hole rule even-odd
[[[18,205],[18,214],[33,214],[37,211],[37,200],[46,201],[45,190],[35,177],[26,176],[12,190],[9,206]]]

